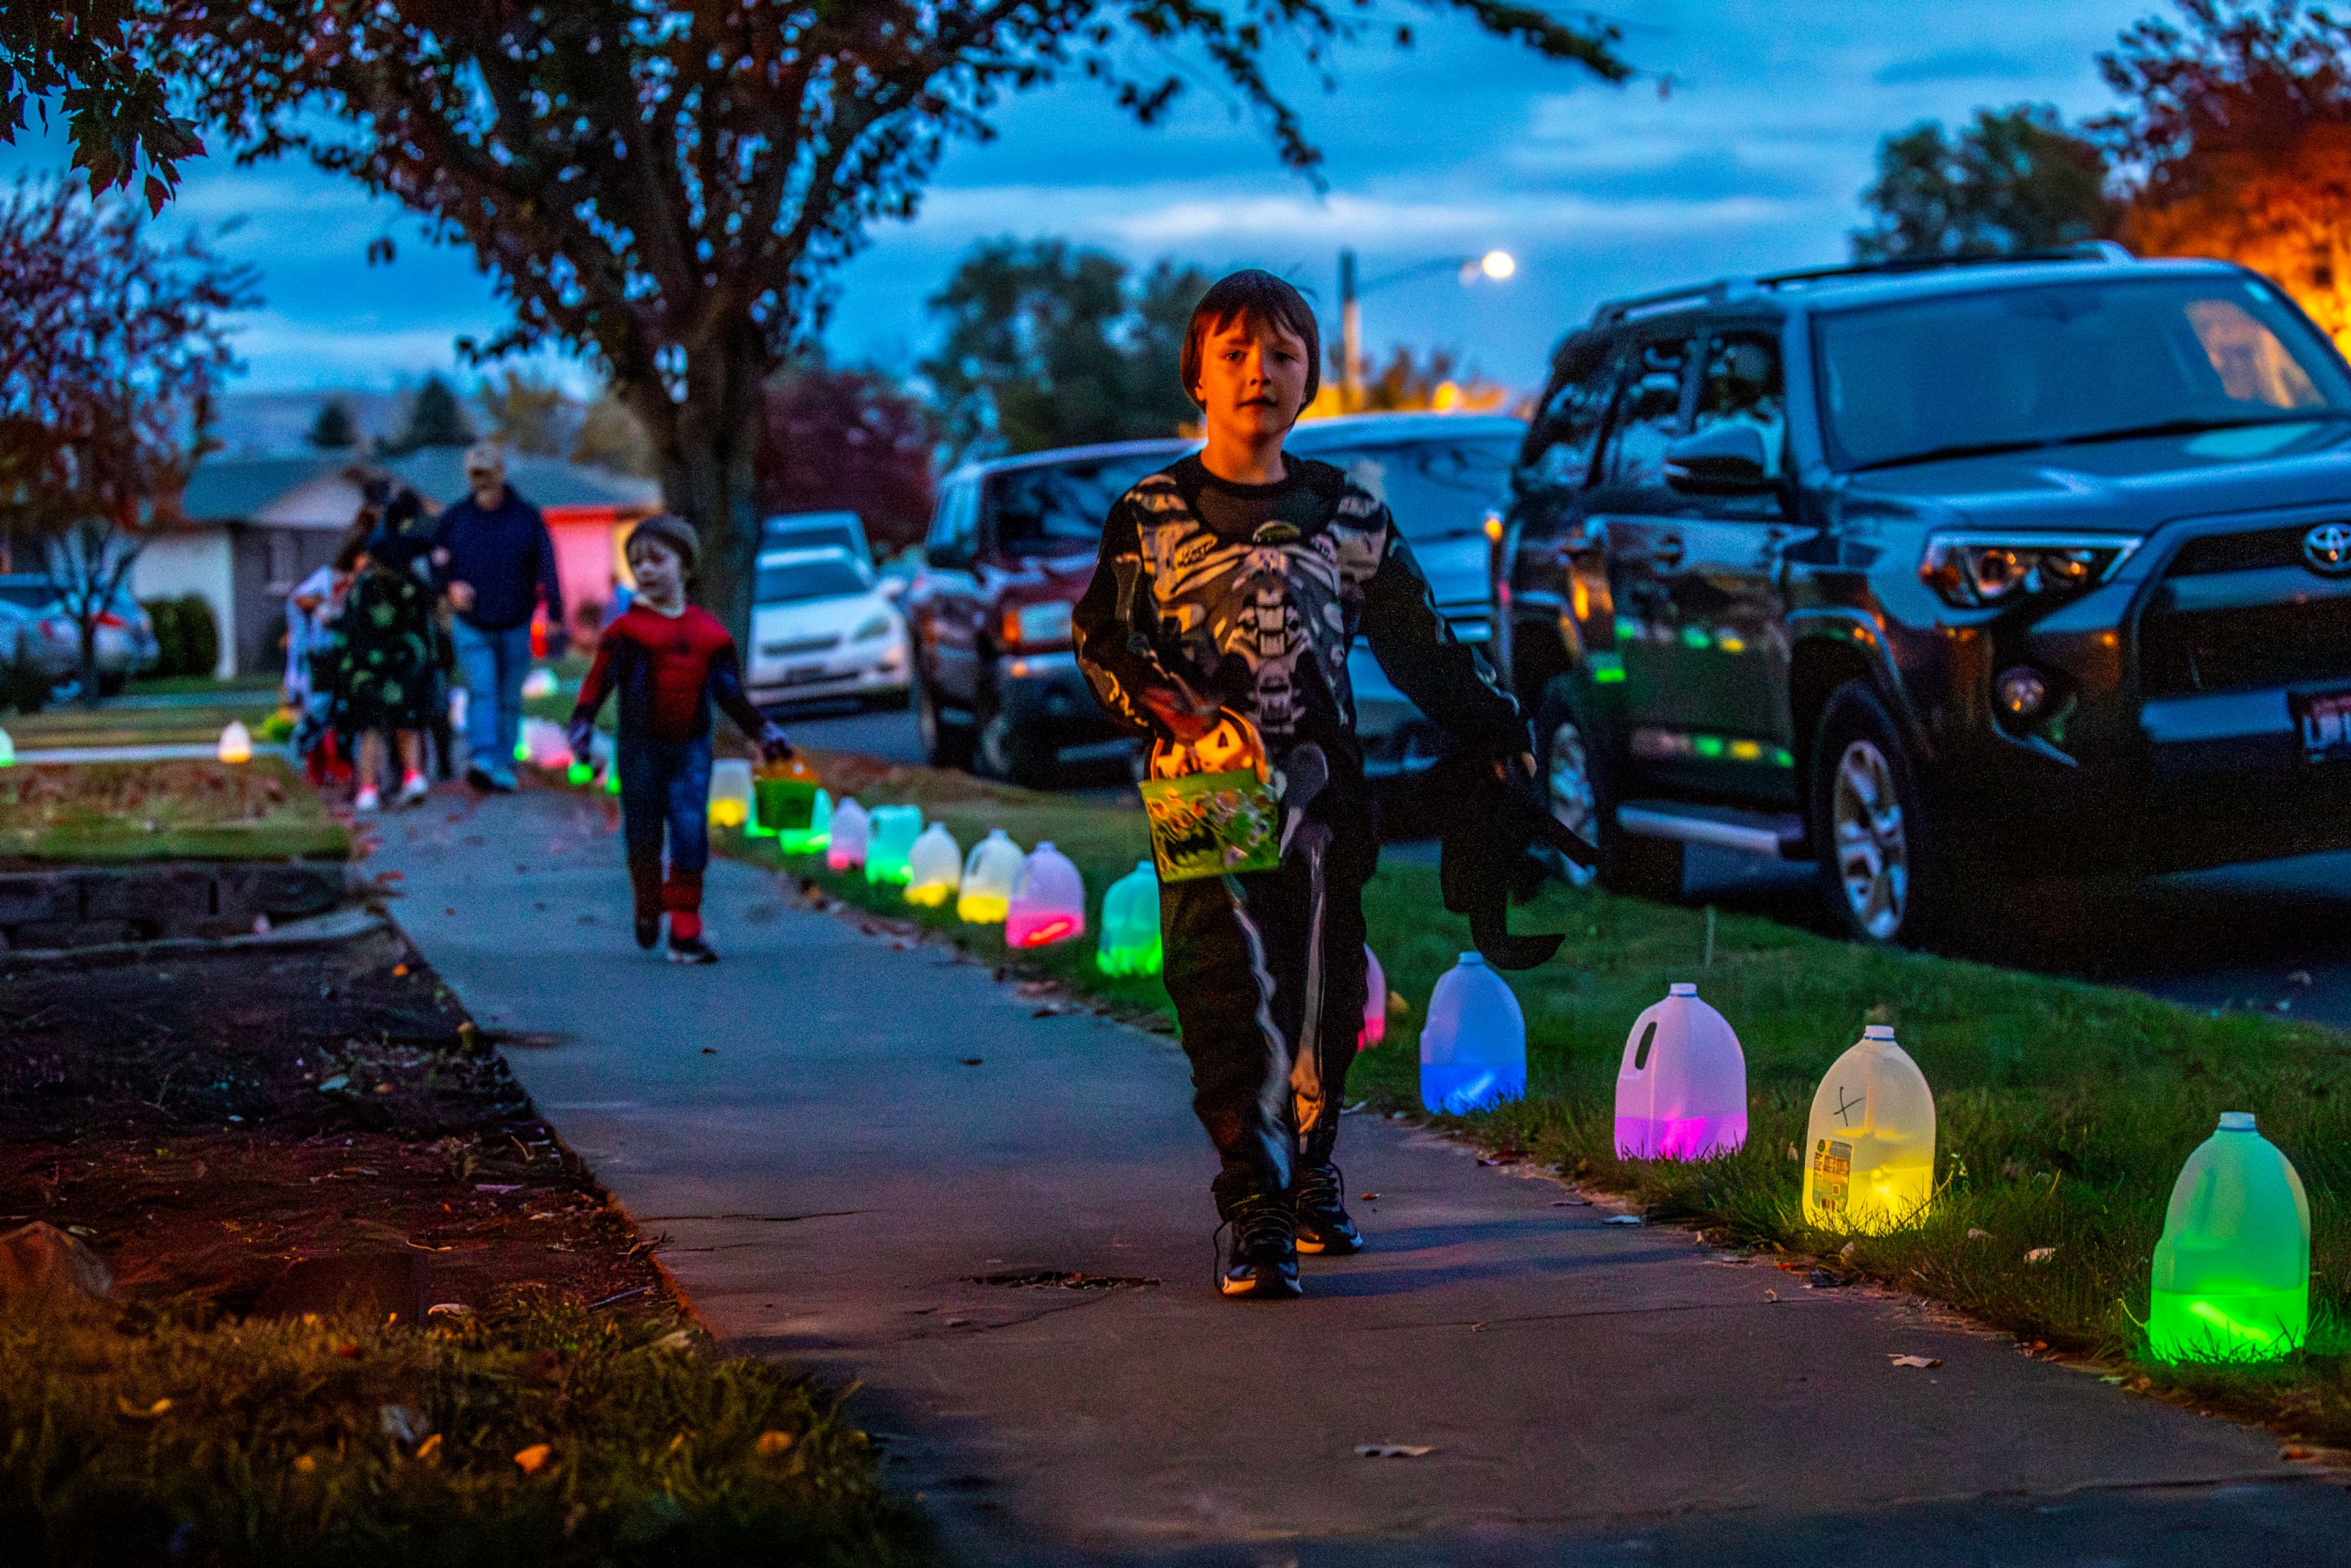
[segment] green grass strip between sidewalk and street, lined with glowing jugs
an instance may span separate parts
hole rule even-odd
[[[1051,837],[1103,889],[1145,853],[1138,811],[1089,806],[929,769],[816,757],[828,780],[865,804],[915,802],[969,849],[987,827],[1023,846]],[[776,863],[773,839],[717,835],[719,849]],[[790,870],[896,917],[952,931],[990,959],[1002,933],[915,910],[896,889],[835,877],[820,860]],[[1359,1058],[1349,1095],[1418,1112],[1420,1011],[1467,945],[1444,912],[1436,872],[1389,865],[1366,896],[1371,943],[1411,1001],[1387,1044]],[[1716,922],[1702,910],[1549,889],[1516,929],[1570,931],[1559,957],[1509,976],[1528,1023],[1531,1093],[1460,1119],[1493,1147],[1521,1150],[1622,1192],[1657,1220],[1719,1239],[1829,1260],[1933,1295],[2045,1340],[2057,1352],[2132,1363],[2144,1354],[2149,1255],[2189,1152],[2224,1110],[2252,1110],[2302,1173],[2313,1208],[2313,1342],[2264,1371],[2137,1363],[2158,1389],[2278,1422],[2311,1441],[2351,1441],[2351,1037],[2306,1023],[2210,1018],[2137,992],[2052,980],[1907,952],[1867,952],[1768,919]],[[1018,954],[1027,971],[1128,1006],[1166,1013],[1157,980],[1093,971],[1091,938]],[[1632,1020],[1672,980],[1695,980],[1730,1018],[1747,1053],[1749,1138],[1740,1154],[1620,1161],[1613,1154],[1615,1072]],[[1806,1112],[1820,1074],[1864,1023],[1893,1023],[1935,1088],[1942,1187],[1930,1215],[1890,1237],[1813,1229],[1799,1211]],[[1970,1232],[1984,1232],[1970,1237]],[[1841,1258],[1841,1248],[1853,1253]],[[2055,1248],[2027,1262],[2036,1248]]]

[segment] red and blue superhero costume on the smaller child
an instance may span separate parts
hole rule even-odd
[[[710,865],[710,708],[724,708],[769,752],[785,750],[785,738],[743,693],[734,637],[694,604],[665,616],[637,602],[604,628],[571,710],[576,752],[585,755],[595,715],[614,691],[621,693],[621,832],[637,919],[668,910],[670,940],[691,940],[703,931],[703,870]]]

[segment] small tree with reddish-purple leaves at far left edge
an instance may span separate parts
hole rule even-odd
[[[45,545],[89,703],[99,623],[209,447],[235,369],[221,317],[254,303],[247,268],[195,233],[160,242],[127,202],[66,183],[0,200],[0,527]]]

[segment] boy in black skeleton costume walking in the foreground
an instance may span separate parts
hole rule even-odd
[[[1110,510],[1074,616],[1079,668],[1112,717],[1171,741],[1204,736],[1220,710],[1251,719],[1298,818],[1279,870],[1159,896],[1192,1107],[1223,1166],[1211,1192],[1234,1232],[1227,1295],[1298,1295],[1300,1251],[1364,1244],[1333,1164],[1378,865],[1347,682],[1357,632],[1455,741],[1533,769],[1516,703],[1453,639],[1387,505],[1284,456],[1319,357],[1291,284],[1248,270],[1208,289],[1183,350],[1208,444]]]

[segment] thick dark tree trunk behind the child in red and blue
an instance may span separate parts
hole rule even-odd
[[[632,397],[642,400],[642,393]],[[639,407],[639,418],[661,444],[663,505],[701,536],[694,602],[719,618],[738,649],[748,649],[752,557],[759,548],[752,508],[764,402],[759,355],[748,346],[701,355],[686,371],[682,404],[668,404],[661,388],[651,388],[651,400],[656,411]]]

